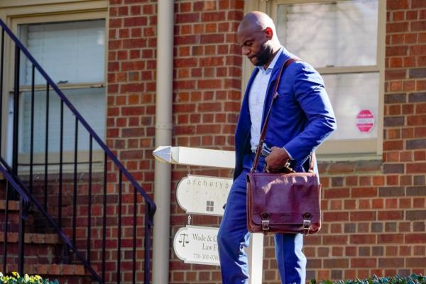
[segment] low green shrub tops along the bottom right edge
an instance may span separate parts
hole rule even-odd
[[[412,274],[410,276],[402,277],[395,275],[395,277],[378,277],[374,275],[368,279],[355,279],[355,280],[339,280],[330,281],[324,280],[319,282],[321,284],[426,284],[426,276]],[[310,280],[310,284],[317,284],[317,280]]]

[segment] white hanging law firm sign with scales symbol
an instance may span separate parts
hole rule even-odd
[[[217,232],[219,228],[186,226],[180,228],[173,240],[176,256],[185,263],[219,266]]]

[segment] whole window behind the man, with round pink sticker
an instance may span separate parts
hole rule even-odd
[[[338,129],[320,154],[381,153],[381,5],[379,0],[276,0],[269,6],[281,44],[322,74],[334,107]]]

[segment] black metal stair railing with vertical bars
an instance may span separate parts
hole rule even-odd
[[[4,173],[6,191],[9,191],[6,192],[3,232],[4,273],[8,272],[9,259],[6,247],[9,228],[7,204],[9,198],[15,197],[21,204],[21,221],[18,229],[19,273],[25,272],[26,252],[23,240],[26,232],[25,219],[28,207],[31,206],[38,212],[38,217],[46,220],[45,223],[60,235],[63,242],[62,263],[77,261],[82,263],[92,275],[92,280],[99,283],[149,283],[151,229],[155,204],[16,35],[1,20],[0,26],[0,148],[4,148],[4,145],[1,145],[2,138],[6,140],[6,137],[12,137],[11,145],[7,145],[8,149],[11,149],[11,156],[0,156],[0,170]],[[13,78],[8,78],[8,82],[9,80],[13,82],[13,91],[11,90],[10,94],[4,86],[5,52],[8,47],[14,50],[13,65],[9,68],[14,70]],[[27,94],[28,92],[30,94],[31,107],[29,111],[26,109],[25,114],[29,117],[29,136],[22,135],[26,129],[23,129],[23,115],[20,113],[24,111],[20,107],[20,100],[23,99],[20,80],[21,58],[31,64],[31,86],[26,87]],[[45,84],[35,84],[36,76],[41,76]],[[57,100],[60,105],[56,106],[60,109],[59,117],[49,115],[50,107],[55,103],[53,98],[59,98]],[[12,126],[2,129],[2,126],[8,125],[4,119],[9,115],[4,113],[5,106],[2,102],[10,100],[13,102]],[[43,127],[35,126],[34,123],[37,109],[35,104],[41,102],[44,102],[45,109]],[[72,129],[65,128],[64,121],[67,119],[65,111],[68,119],[75,118]],[[59,131],[54,134],[50,124],[58,120]],[[35,153],[35,146],[40,149],[40,145],[35,143],[35,136],[43,136],[40,135],[43,131],[44,152]],[[74,133],[74,147],[68,149],[66,153],[65,133]],[[82,140],[82,134],[88,137],[87,141]],[[49,145],[53,135],[59,136],[59,150],[56,153],[52,153]],[[24,138],[28,141],[23,141]],[[40,139],[37,141],[40,143]],[[79,145],[86,142],[88,145],[85,144],[87,148],[84,150],[88,151],[80,151]],[[23,144],[29,145],[28,153],[21,151],[20,147]],[[9,150],[5,151],[3,148],[1,153],[8,153]],[[83,152],[88,152],[88,157],[86,160],[79,160]],[[97,155],[97,160],[94,160],[95,152],[100,153],[102,158],[99,159]],[[29,155],[29,158],[22,158],[24,154]],[[58,159],[54,160],[53,156]],[[68,254],[69,251],[73,253]],[[129,273],[131,277],[128,277]]]

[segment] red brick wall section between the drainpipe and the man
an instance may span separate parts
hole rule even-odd
[[[176,1],[173,81],[173,144],[234,150],[241,105],[241,52],[235,31],[244,1]],[[228,177],[229,170],[192,168],[194,174]],[[175,200],[187,168],[173,170],[172,234],[187,223]],[[219,226],[220,218],[192,216],[192,224]],[[171,252],[170,283],[219,283],[218,266],[185,264]]]

